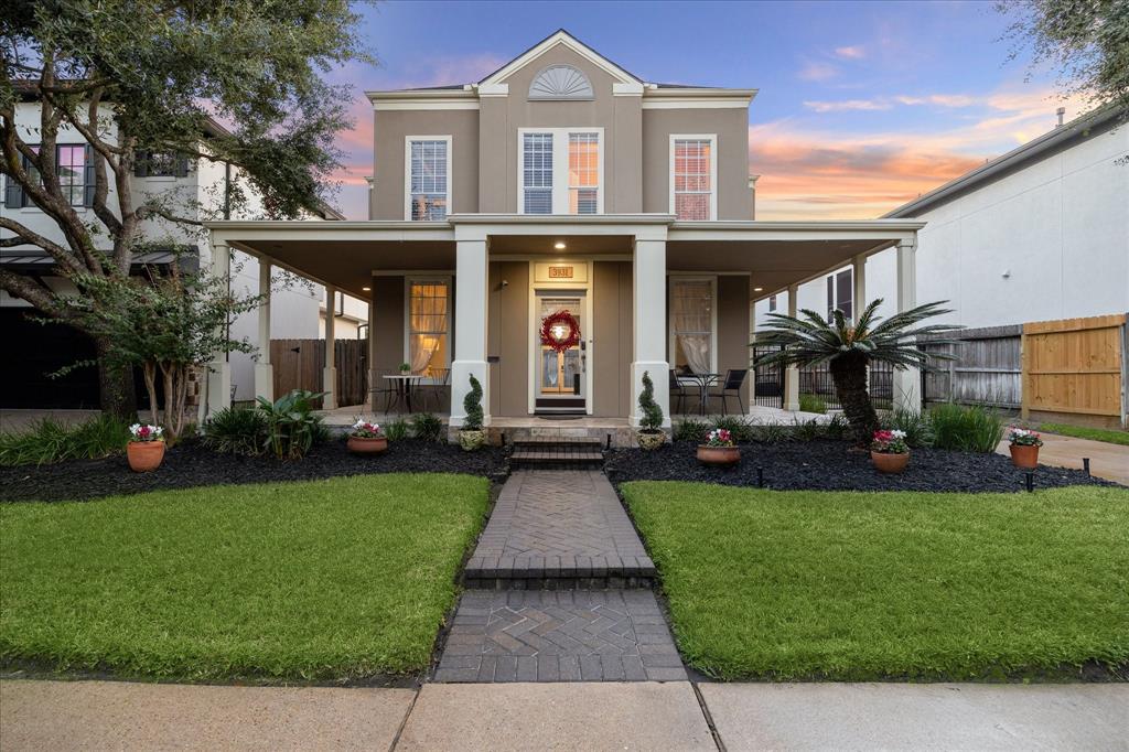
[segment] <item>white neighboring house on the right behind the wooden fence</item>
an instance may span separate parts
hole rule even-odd
[[[1129,311],[1129,123],[1105,107],[1059,125],[887,218],[918,236],[917,299],[948,300],[948,321],[999,326]],[[893,309],[894,259],[866,263],[867,297]],[[858,308],[854,270],[799,288],[800,308]],[[787,294],[776,296],[787,309]],[[756,304],[756,322],[772,299]]]

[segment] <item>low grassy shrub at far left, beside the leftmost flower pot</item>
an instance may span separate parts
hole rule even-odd
[[[129,423],[106,413],[75,426],[41,418],[26,430],[0,432],[0,465],[106,457],[124,451],[129,438]]]

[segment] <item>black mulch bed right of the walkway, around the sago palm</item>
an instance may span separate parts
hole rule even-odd
[[[676,480],[755,487],[756,469],[763,467],[765,488],[778,490],[984,492],[1025,488],[1025,472],[998,454],[918,448],[911,451],[903,473],[884,475],[870,464],[868,452],[854,451],[844,441],[743,444],[741,462],[728,469],[702,465],[695,449],[691,441],[676,441],[655,452],[620,449],[610,453],[604,470],[615,483]],[[1034,471],[1034,484],[1036,489],[1115,486],[1082,470],[1045,465]]]

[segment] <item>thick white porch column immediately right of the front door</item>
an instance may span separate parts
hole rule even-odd
[[[655,402],[663,409],[664,428],[671,425],[671,379],[666,360],[666,237],[636,237],[632,255],[631,425],[639,426],[639,394],[647,371],[655,385]]]

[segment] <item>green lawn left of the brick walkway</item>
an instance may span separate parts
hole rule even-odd
[[[0,505],[0,658],[190,681],[422,671],[488,495],[388,474]]]

